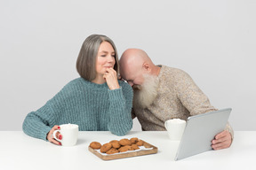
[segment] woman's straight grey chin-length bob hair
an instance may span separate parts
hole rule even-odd
[[[76,59],[76,70],[87,81],[96,78],[96,61],[101,42],[109,42],[115,50],[114,70],[119,73],[118,55],[115,43],[106,35],[90,35],[85,40]]]

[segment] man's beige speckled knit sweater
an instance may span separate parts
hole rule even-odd
[[[168,66],[162,66],[158,74],[159,85],[156,100],[148,108],[133,108],[143,130],[166,130],[164,121],[173,118],[187,120],[188,116],[215,109],[188,73]],[[227,125],[233,137],[233,130]]]

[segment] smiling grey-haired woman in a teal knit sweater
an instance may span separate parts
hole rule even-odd
[[[109,130],[115,135],[130,131],[132,88],[117,79],[119,65],[114,42],[105,35],[87,37],[76,69],[81,77],[68,82],[36,112],[28,113],[23,131],[60,145],[52,138],[60,124],[77,124],[82,131]]]

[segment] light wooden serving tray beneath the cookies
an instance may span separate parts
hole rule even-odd
[[[93,154],[95,154],[97,157],[101,158],[102,160],[113,160],[117,158],[129,158],[129,157],[137,157],[142,155],[148,155],[148,154],[154,154],[157,153],[156,146],[146,143],[143,141],[143,146],[145,148],[153,148],[152,150],[144,150],[144,151],[133,151],[133,152],[124,152],[120,154],[109,154],[109,155],[102,155],[98,151],[93,150],[90,146],[88,147],[88,150],[91,151]]]

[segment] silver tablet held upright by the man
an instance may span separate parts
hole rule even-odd
[[[228,123],[231,108],[188,117],[175,160],[212,150],[212,139]]]

